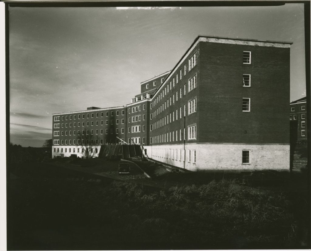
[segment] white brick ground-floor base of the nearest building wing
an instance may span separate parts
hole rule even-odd
[[[289,144],[178,144],[144,146],[149,158],[191,171],[289,170]],[[190,160],[189,160],[190,150]],[[242,151],[250,151],[250,163],[242,164]],[[195,161],[194,161],[195,151]],[[195,163],[194,163],[195,162]]]

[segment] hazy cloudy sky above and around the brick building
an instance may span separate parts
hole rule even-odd
[[[291,41],[290,100],[306,96],[304,6],[9,7],[10,141],[41,147],[52,114],[123,106],[198,35]]]

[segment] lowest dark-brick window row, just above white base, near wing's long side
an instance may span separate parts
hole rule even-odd
[[[150,137],[150,143],[159,144],[159,143],[185,140],[185,135],[186,135],[186,128],[183,128],[183,130],[179,129],[179,133],[178,130],[176,130]],[[196,139],[197,139],[197,125],[196,124],[188,125],[188,140],[196,140]]]

